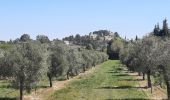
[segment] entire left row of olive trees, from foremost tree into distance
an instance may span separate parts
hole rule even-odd
[[[13,87],[19,88],[22,100],[23,91],[30,92],[44,74],[52,86],[54,78],[69,79],[107,58],[103,52],[69,46],[59,40],[51,42],[44,35],[37,36],[35,41],[24,34],[10,49],[0,50],[0,78],[10,80]]]

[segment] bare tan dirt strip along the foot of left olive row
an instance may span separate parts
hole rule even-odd
[[[93,73],[96,69],[98,69],[100,66],[93,67],[92,69],[89,69],[85,73],[80,73],[78,76],[75,76],[69,80],[64,81],[55,81],[53,82],[53,87],[38,89],[35,91],[32,91],[31,94],[25,95],[24,100],[46,100],[48,99],[49,94],[55,92],[56,90],[64,88],[66,85],[68,85],[70,82],[79,80],[81,77],[86,77]]]

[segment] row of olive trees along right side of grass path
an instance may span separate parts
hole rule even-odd
[[[145,79],[145,74],[147,75],[149,88],[152,88],[151,75],[163,76],[170,99],[169,59],[170,40],[152,35],[125,45],[120,52],[120,60],[129,70],[143,73],[143,79]],[[161,84],[163,81],[160,78],[158,82]]]

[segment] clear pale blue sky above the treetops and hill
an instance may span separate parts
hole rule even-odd
[[[142,37],[167,18],[170,0],[0,0],[0,40],[50,39],[107,29],[122,37]]]

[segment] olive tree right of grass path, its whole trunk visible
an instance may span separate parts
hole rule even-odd
[[[153,51],[157,39],[153,36],[144,37],[142,40],[129,44],[128,49],[120,56],[130,70],[147,74],[148,87],[151,87],[151,74],[154,70]],[[124,57],[123,57],[124,56]],[[144,76],[143,76],[144,78]]]

